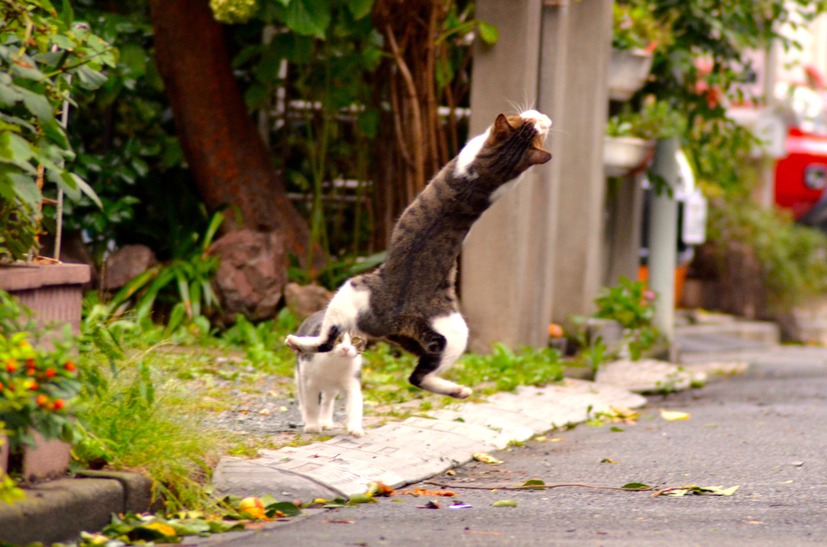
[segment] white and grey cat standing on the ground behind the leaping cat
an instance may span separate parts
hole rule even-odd
[[[319,334],[324,312],[308,317],[298,333]],[[321,433],[332,429],[333,406],[337,395],[345,397],[347,432],[354,437],[365,434],[362,429],[362,351],[365,342],[342,333],[333,349],[325,353],[299,353],[296,358],[296,387],[305,433]]]

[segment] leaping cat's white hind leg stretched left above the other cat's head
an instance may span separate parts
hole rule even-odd
[[[366,288],[357,289],[353,282],[348,280],[336,291],[333,299],[327,305],[322,326],[316,336],[288,335],[284,342],[296,353],[328,352],[336,344],[336,338],[342,332],[352,332],[356,329],[359,314],[368,307],[370,291]]]

